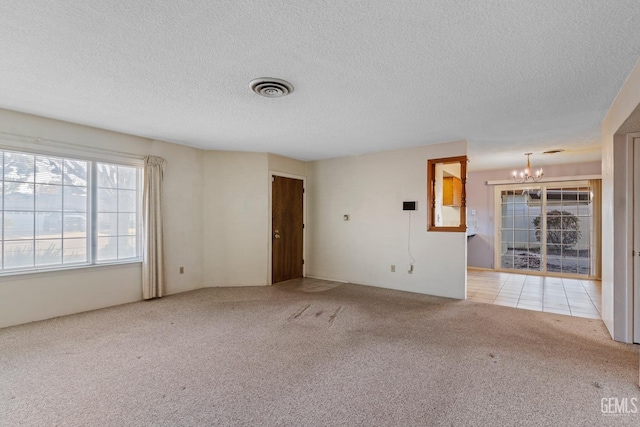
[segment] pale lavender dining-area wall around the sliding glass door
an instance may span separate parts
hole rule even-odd
[[[545,178],[599,175],[600,162],[572,163],[567,165],[540,165]],[[487,181],[509,180],[513,170],[469,172],[467,179],[467,224],[475,228],[476,235],[467,242],[467,263],[469,267],[494,268],[494,186]],[[476,211],[472,215],[472,210]]]

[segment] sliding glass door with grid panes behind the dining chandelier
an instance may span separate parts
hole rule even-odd
[[[559,275],[596,275],[589,181],[496,187],[496,265]]]

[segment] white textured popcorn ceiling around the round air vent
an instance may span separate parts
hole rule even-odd
[[[0,2],[0,107],[302,160],[458,139],[471,170],[599,160],[639,56],[638,0]],[[294,92],[257,96],[265,76]]]

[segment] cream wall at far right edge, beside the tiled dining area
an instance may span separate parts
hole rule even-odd
[[[602,320],[613,339],[632,342],[633,284],[626,278],[631,253],[628,227],[629,162],[620,126],[640,104],[640,64],[636,64],[602,122]]]

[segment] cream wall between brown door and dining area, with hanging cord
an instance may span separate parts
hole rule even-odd
[[[426,231],[426,193],[427,160],[465,155],[466,146],[457,141],[308,163],[307,275],[465,298],[466,235]],[[417,201],[418,210],[403,211],[403,201]]]

